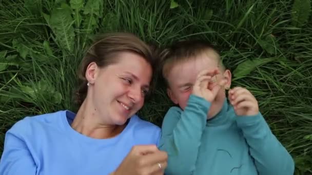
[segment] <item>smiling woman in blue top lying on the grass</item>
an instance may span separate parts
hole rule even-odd
[[[83,58],[79,111],[26,117],[8,130],[0,174],[163,174],[160,128],[139,119],[152,54],[138,37],[112,33]]]

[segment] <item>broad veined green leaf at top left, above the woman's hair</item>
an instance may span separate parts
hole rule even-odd
[[[49,25],[56,37],[56,42],[60,48],[72,52],[74,48],[74,29],[71,9],[68,5],[62,4],[60,8],[52,10]]]

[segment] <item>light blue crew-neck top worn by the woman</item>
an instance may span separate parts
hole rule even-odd
[[[59,111],[16,122],[6,133],[0,174],[109,174],[132,146],[158,145],[161,135],[158,126],[134,115],[118,136],[93,139],[70,126],[74,117]]]

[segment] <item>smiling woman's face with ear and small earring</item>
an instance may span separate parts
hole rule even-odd
[[[88,95],[94,113],[104,123],[122,125],[143,106],[152,68],[143,57],[131,52],[120,53],[117,59],[105,68],[90,63],[86,77],[91,75]]]

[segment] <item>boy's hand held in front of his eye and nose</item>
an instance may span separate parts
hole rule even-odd
[[[224,84],[226,83],[226,81],[221,80],[219,84],[214,85],[214,86],[209,86],[209,82],[211,81],[211,78],[219,73],[220,73],[219,70],[201,71],[198,74],[196,82],[193,86],[192,94],[202,97],[211,103],[214,100],[214,98],[216,98],[221,87],[224,86]]]

